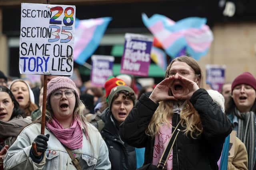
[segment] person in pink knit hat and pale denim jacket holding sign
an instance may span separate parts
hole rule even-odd
[[[40,123],[25,127],[5,156],[5,170],[76,170],[73,156],[82,170],[110,170],[106,143],[98,130],[85,121],[84,111],[85,106],[70,78],[50,80],[47,84],[46,135],[40,135]],[[32,142],[36,142],[39,154],[32,149]],[[68,154],[68,150],[72,154]]]

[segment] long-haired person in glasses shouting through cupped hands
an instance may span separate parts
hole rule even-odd
[[[192,57],[175,58],[165,79],[151,94],[140,97],[120,125],[124,142],[145,147],[144,165],[158,165],[180,123],[180,133],[163,166],[168,170],[218,170],[217,161],[232,127],[202,83],[201,68]]]

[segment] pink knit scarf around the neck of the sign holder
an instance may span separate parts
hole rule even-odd
[[[74,118],[70,128],[67,129],[64,129],[55,117],[50,123],[46,123],[46,126],[69,149],[74,150],[82,147],[83,134],[79,118]]]

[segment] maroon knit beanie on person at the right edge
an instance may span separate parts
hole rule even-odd
[[[256,90],[256,79],[250,72],[244,72],[235,78],[231,85],[232,92],[234,90],[234,87],[239,84],[248,84],[252,86],[254,90]]]

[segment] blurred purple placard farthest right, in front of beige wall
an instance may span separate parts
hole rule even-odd
[[[225,70],[224,65],[206,65],[206,82],[212,84],[212,89],[220,92],[222,85],[225,83]]]

